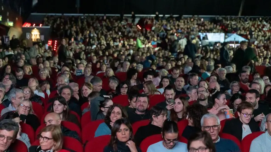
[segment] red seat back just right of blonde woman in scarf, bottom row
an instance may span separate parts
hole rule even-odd
[[[74,151],[84,151],[82,143],[75,138],[64,136],[63,147]]]

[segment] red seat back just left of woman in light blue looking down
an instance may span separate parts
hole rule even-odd
[[[147,152],[148,147],[152,144],[155,144],[159,141],[162,141],[162,135],[161,134],[157,134],[157,135],[151,135],[148,136],[147,138],[145,138],[141,144],[140,144],[140,149],[142,150],[142,152]]]

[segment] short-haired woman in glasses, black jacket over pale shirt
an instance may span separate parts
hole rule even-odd
[[[254,107],[249,102],[239,104],[237,111],[239,118],[226,121],[223,132],[234,135],[240,141],[252,132],[260,131],[258,123],[252,114]]]

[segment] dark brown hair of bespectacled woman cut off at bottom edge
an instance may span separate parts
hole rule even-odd
[[[203,142],[203,144],[208,148],[210,149],[210,152],[216,152],[216,147],[213,143],[213,140],[210,136],[210,134],[206,131],[203,131],[203,132],[197,132],[195,134],[192,134],[190,136],[190,138],[188,139],[188,143],[187,143],[187,149],[189,151],[189,147],[191,145],[191,143],[193,141],[198,141],[198,140],[201,140]]]

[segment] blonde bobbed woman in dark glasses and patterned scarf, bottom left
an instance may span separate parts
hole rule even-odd
[[[31,146],[29,152],[68,152],[63,150],[63,135],[58,125],[48,125],[38,134],[39,146]]]

